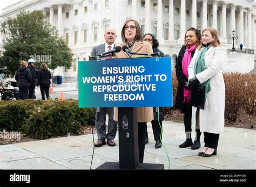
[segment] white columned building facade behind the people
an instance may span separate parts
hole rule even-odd
[[[116,29],[116,44],[121,43],[120,32],[128,18],[138,20],[144,33],[155,34],[159,49],[170,54],[173,63],[185,31],[191,26],[199,30],[214,27],[226,49],[232,48],[230,35],[235,31],[235,47],[242,43],[256,54],[256,3],[250,0],[22,0],[3,9],[0,21],[15,17],[20,11],[33,10],[44,12],[74,54],[72,68],[56,70],[65,77],[77,76],[77,60],[88,60],[92,47],[105,42],[103,34],[107,28]],[[254,68],[254,54],[228,54],[227,59],[226,71],[237,68],[249,72]]]

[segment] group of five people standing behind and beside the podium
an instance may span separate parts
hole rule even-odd
[[[165,54],[158,49],[159,43],[152,33],[143,35],[142,30],[134,19],[127,19],[123,24],[122,44],[127,46],[130,52],[136,53],[158,53],[157,57],[165,57]],[[113,49],[116,44],[116,30],[107,29],[104,38],[105,44],[93,47],[91,56],[97,56]],[[133,54],[132,57],[138,57]],[[154,57],[154,56],[153,56]],[[111,57],[107,57],[111,58]],[[124,51],[115,53],[113,58],[129,58]],[[178,79],[177,97],[174,106],[184,114],[185,142],[179,145],[180,148],[201,147],[200,136],[204,133],[204,148],[198,153],[199,156],[209,157],[217,155],[219,134],[224,131],[224,108],[225,108],[225,84],[221,67],[226,60],[225,48],[221,46],[217,30],[209,27],[200,32],[196,28],[189,28],[184,33],[184,45],[181,46],[176,60],[176,76]],[[192,93],[197,94],[199,87],[204,87],[204,107],[197,107],[193,101]],[[106,134],[105,119],[106,109],[109,111],[109,132]],[[98,130],[98,141],[96,147],[105,144],[115,146],[114,137],[118,123],[117,108],[97,108],[96,128]],[[158,119],[159,113],[159,119]],[[145,144],[149,142],[147,135],[147,122],[151,122],[155,148],[161,147],[162,121],[164,120],[163,107],[138,107],[138,146],[139,162],[143,163]],[[192,130],[196,137],[192,141]]]

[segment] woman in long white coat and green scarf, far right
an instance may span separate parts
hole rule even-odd
[[[192,129],[204,132],[205,146],[199,156],[217,155],[219,134],[224,131],[225,84],[221,67],[226,61],[225,47],[221,46],[218,31],[206,28],[202,32],[203,48],[194,54],[188,66],[191,87],[205,86],[205,107],[192,107]]]

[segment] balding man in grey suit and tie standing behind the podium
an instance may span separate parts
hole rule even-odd
[[[92,49],[91,56],[95,57],[99,55],[100,53],[104,53],[107,51],[110,51],[114,48],[114,40],[116,40],[116,30],[114,29],[107,29],[105,34],[105,44],[100,44]],[[110,56],[107,56],[106,59],[111,58]],[[106,134],[106,109],[109,112],[109,126],[108,126],[108,132]],[[95,126],[97,128],[97,134],[98,134],[98,141],[95,143],[95,147],[102,147],[104,144],[106,144],[106,138],[107,138],[107,144],[109,146],[116,146],[116,143],[114,142],[114,137],[117,133],[117,122],[113,120],[114,115],[114,108],[96,108],[96,120],[95,120]]]

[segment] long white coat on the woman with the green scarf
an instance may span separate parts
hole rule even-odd
[[[197,50],[188,66],[188,80],[194,75],[194,62],[199,54]],[[224,47],[210,47],[205,53],[206,69],[196,74],[200,83],[210,79],[211,91],[207,93],[205,109],[199,109],[199,127],[201,132],[220,134],[224,131],[225,84],[221,67],[226,61]],[[196,130],[196,107],[192,107],[192,129]]]

